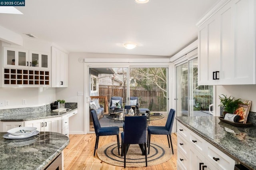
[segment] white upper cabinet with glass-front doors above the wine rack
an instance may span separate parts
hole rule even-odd
[[[49,53],[4,47],[4,67],[16,69],[50,70]]]

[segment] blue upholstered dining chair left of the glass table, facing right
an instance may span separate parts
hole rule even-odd
[[[119,155],[120,154],[120,151],[119,151],[119,147],[120,147],[119,127],[100,127],[100,122],[98,120],[96,111],[92,110],[91,114],[92,114],[92,121],[93,121],[93,125],[94,125],[94,130],[95,130],[95,134],[96,134],[96,141],[95,141],[93,156],[95,156],[96,149],[98,149],[99,137],[100,136],[108,136],[108,135],[116,135],[118,155]]]

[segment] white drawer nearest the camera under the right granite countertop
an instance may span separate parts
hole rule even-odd
[[[222,170],[234,169],[236,161],[224,154],[210,143],[206,143],[205,158],[216,168]]]

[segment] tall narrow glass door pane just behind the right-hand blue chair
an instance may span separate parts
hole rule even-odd
[[[176,67],[176,115],[188,116],[188,63]]]

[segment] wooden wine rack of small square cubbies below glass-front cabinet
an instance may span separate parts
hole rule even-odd
[[[4,85],[50,85],[50,71],[4,68]]]

